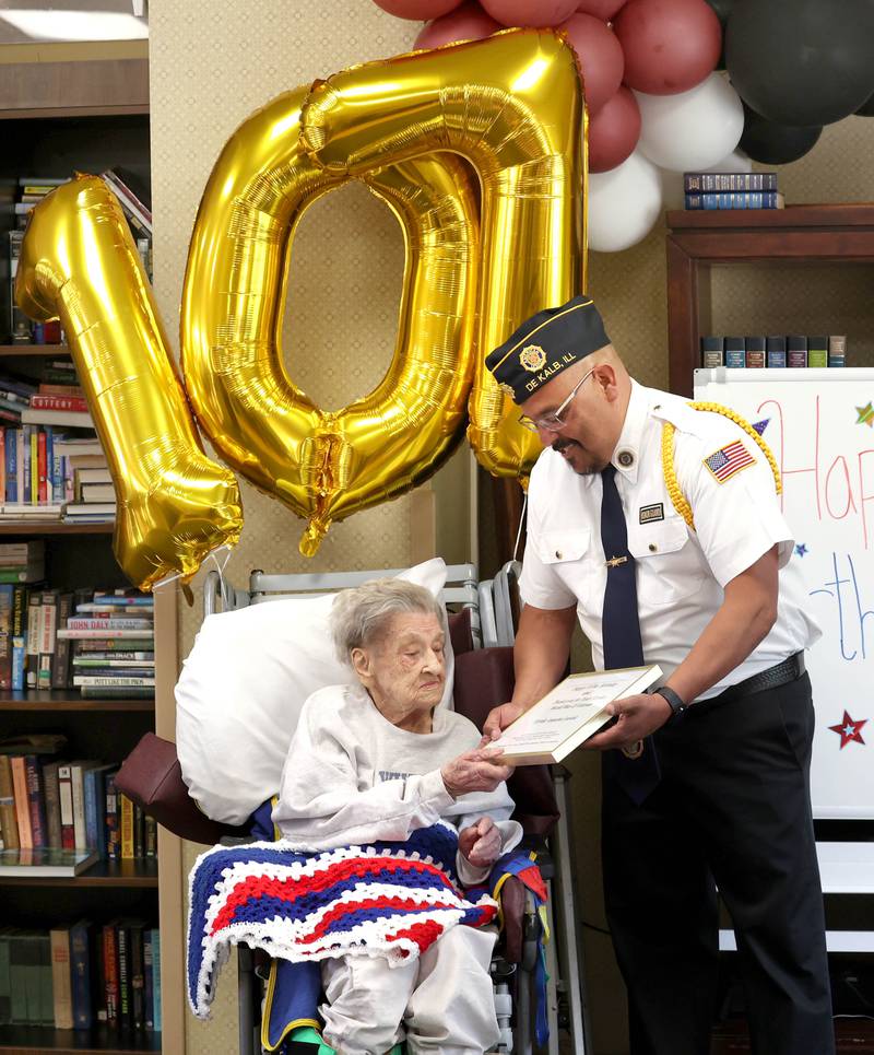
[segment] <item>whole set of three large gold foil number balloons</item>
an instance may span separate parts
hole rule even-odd
[[[305,554],[316,552],[332,520],[434,472],[460,438],[468,401],[468,435],[481,464],[495,474],[527,476],[539,446],[516,423],[483,359],[529,314],[583,288],[583,119],[575,56],[562,37],[508,31],[290,92],[228,140],[189,250],[185,383],[222,458],[308,520]],[[281,308],[300,216],[351,178],[363,179],[401,223],[404,292],[383,379],[328,413],[285,373]],[[84,183],[86,197],[105,194],[96,180],[76,181]],[[116,551],[126,572],[143,584],[165,567],[191,574],[209,549],[236,538],[238,496],[220,493],[233,483],[200,450],[129,235],[114,230],[102,239],[96,214],[88,223],[64,221],[62,203],[82,212],[81,195],[75,202],[58,195],[54,222],[49,201],[37,206],[25,237],[20,303],[35,316],[60,314],[70,335],[119,492]],[[105,272],[122,257],[108,281]],[[63,280],[47,281],[49,273]],[[80,325],[71,325],[75,313],[61,295],[66,281],[96,286],[78,297]],[[147,325],[138,321],[143,304]],[[123,347],[119,368],[128,384],[141,386],[137,399],[104,384],[107,356],[88,351],[92,327],[113,331],[102,348]],[[160,422],[141,412],[153,406]],[[170,423],[178,436],[161,432]],[[164,454],[160,435],[175,437]],[[137,471],[143,456],[149,470]],[[186,459],[196,472],[179,471]],[[166,516],[151,526],[141,517],[135,542],[120,544],[131,537],[122,511],[146,507],[146,497],[180,514],[213,511],[209,528],[198,520],[189,532],[186,561],[173,552],[185,546],[184,517],[173,532]],[[151,561],[151,577],[143,561]]]

